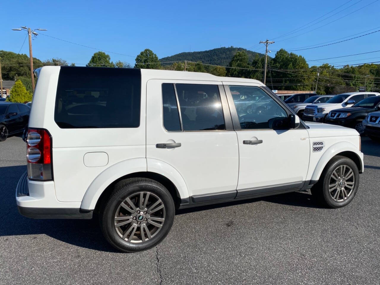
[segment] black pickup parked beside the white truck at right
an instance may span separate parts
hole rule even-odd
[[[359,134],[364,133],[363,120],[368,113],[380,110],[380,96],[364,98],[350,108],[340,108],[329,112],[326,123],[355,128]]]

